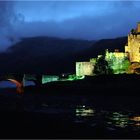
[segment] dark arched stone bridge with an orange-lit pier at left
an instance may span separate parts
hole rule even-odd
[[[26,81],[33,81],[37,87],[42,85],[42,75],[40,74],[0,74],[1,81],[11,81],[16,85],[16,91],[19,94],[24,92]]]

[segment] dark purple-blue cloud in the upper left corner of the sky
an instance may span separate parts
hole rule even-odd
[[[0,1],[0,51],[18,41],[13,24],[16,19],[13,1]]]

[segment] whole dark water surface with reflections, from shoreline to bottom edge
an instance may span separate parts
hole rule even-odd
[[[138,97],[28,95],[5,101],[1,138],[140,138]]]

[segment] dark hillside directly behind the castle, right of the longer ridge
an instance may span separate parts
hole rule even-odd
[[[124,52],[124,46],[127,43],[127,37],[120,37],[115,39],[102,39],[95,42],[90,48],[81,51],[77,54],[77,61],[89,60],[89,58],[97,57],[99,54],[104,54],[108,49],[110,52],[114,52],[115,49]]]

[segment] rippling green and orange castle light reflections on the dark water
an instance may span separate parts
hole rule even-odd
[[[75,107],[67,109],[62,109],[60,106],[53,108],[49,105],[46,105],[46,109],[45,106],[43,108],[42,111],[48,114],[55,112],[58,115],[63,114],[65,116],[66,113],[69,113],[74,118],[75,123],[85,123],[91,127],[104,125],[105,128],[110,130],[140,130],[140,115],[135,115],[132,111],[98,110],[85,104],[75,105]]]

